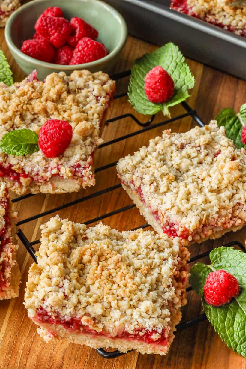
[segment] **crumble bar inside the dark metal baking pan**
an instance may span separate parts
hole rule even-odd
[[[245,1],[171,0],[171,9],[246,37]]]

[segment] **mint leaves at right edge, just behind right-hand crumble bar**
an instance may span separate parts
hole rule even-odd
[[[231,108],[225,108],[215,119],[219,127],[222,125],[225,127],[226,136],[232,139],[236,148],[243,147],[246,149],[246,145],[243,144],[241,139],[241,132],[246,123],[246,103],[241,106],[238,114]]]

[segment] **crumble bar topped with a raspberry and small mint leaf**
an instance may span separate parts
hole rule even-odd
[[[62,155],[47,158],[41,150],[13,156],[0,151],[0,176],[17,194],[65,193],[94,186],[93,153],[102,142],[105,113],[115,82],[102,72],[35,73],[9,87],[0,83],[0,139],[6,132],[28,128],[37,134],[48,119],[72,125],[73,138]]]

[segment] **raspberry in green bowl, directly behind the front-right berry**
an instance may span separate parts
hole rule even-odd
[[[75,47],[83,37],[90,37],[92,39],[96,39],[98,37],[96,28],[93,28],[81,18],[73,17],[70,20],[70,26],[71,36],[67,43],[72,47]]]

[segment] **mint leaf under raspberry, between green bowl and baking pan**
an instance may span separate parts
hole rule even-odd
[[[174,96],[164,104],[149,101],[144,90],[146,74],[158,65],[169,73],[174,82]],[[194,76],[184,56],[178,46],[169,42],[151,54],[145,54],[135,60],[128,87],[129,102],[142,114],[156,114],[158,111],[163,111],[164,115],[170,115],[168,108],[186,100],[190,96],[188,89],[192,89],[194,85]]]

